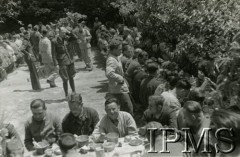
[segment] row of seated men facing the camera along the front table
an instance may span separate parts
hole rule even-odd
[[[196,141],[200,139],[203,128],[211,127],[216,131],[217,128],[225,125],[225,127],[233,128],[235,134],[239,134],[240,132],[240,127],[234,125],[234,123],[239,123],[239,114],[216,110],[212,114],[212,118],[208,119],[203,115],[201,105],[195,101],[185,102],[181,112],[178,114],[173,112],[164,116],[163,112],[167,110],[163,106],[164,98],[162,96],[150,96],[149,109],[144,112],[142,118],[145,125],[140,126],[140,129],[137,128],[131,114],[121,111],[120,104],[115,98],[106,100],[106,115],[101,119],[99,119],[98,112],[95,109],[83,105],[80,94],[71,94],[68,98],[68,104],[70,112],[61,122],[59,120],[60,117],[47,112],[43,100],[37,99],[31,102],[30,108],[33,115],[25,124],[24,139],[24,145],[28,151],[36,149],[34,142],[46,140],[51,144],[55,143],[61,137],[62,133],[91,135],[95,142],[99,142],[102,141],[104,135],[110,132],[118,133],[119,137],[138,134],[146,136],[148,135],[147,128],[159,127],[175,128],[176,130],[181,129],[181,127],[190,128]],[[226,118],[229,121],[228,123],[226,123]],[[210,122],[212,122],[211,126]],[[16,139],[21,143],[19,135],[12,125],[6,125],[3,128],[5,129],[6,139]],[[2,130],[1,133],[3,132]],[[238,139],[229,135],[224,136],[234,141]],[[236,141],[236,144],[239,145],[239,141]]]

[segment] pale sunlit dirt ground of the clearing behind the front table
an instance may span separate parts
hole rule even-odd
[[[105,77],[104,58],[93,50],[94,70],[85,71],[82,61],[75,63],[77,74],[75,76],[76,92],[81,93],[85,106],[96,109],[100,118],[105,114],[104,96],[107,92],[107,78]],[[41,79],[41,91],[33,91],[29,82],[30,75],[26,65],[21,66],[8,75],[8,79],[0,83],[0,113],[4,113],[5,122],[12,123],[24,139],[24,123],[31,117],[30,102],[40,98],[45,100],[48,112],[63,118],[69,112],[64,99],[62,80],[56,79],[58,87],[49,88],[46,79]],[[69,87],[69,92],[70,91]]]

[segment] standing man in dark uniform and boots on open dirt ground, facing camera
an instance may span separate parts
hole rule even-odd
[[[68,96],[68,80],[72,88],[72,92],[75,92],[74,76],[75,76],[75,67],[73,54],[69,53],[68,50],[68,38],[67,38],[67,29],[61,27],[59,30],[59,36],[53,40],[52,51],[54,57],[54,64],[56,60],[59,65],[59,75],[63,80],[63,88],[65,96]]]

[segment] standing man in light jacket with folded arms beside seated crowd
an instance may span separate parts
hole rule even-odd
[[[110,55],[106,61],[106,76],[109,80],[109,94],[121,104],[123,111],[133,115],[133,104],[129,96],[129,89],[124,79],[124,72],[119,56],[122,53],[122,40],[120,37],[112,39],[109,45]]]

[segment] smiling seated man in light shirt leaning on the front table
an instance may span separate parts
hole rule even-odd
[[[137,135],[136,122],[131,114],[120,111],[120,104],[116,98],[109,98],[105,102],[106,115],[98,122],[93,136],[100,138],[110,132],[119,134],[119,137]]]

